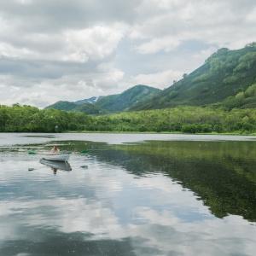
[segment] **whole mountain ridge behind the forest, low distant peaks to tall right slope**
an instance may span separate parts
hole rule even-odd
[[[48,108],[85,113],[116,113],[212,104],[224,108],[248,108],[256,106],[255,96],[245,94],[253,84],[256,84],[256,43],[247,44],[241,49],[218,49],[201,67],[184,74],[183,79],[165,90],[137,84],[119,94],[91,97],[77,102],[56,102]],[[240,92],[244,93],[245,98],[238,102]],[[85,103],[91,106],[83,105]],[[84,107],[78,108],[76,104]]]

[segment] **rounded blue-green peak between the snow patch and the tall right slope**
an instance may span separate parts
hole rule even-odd
[[[160,89],[148,85],[137,84],[116,95],[104,96],[96,102],[96,106],[109,112],[119,112],[132,108],[138,102],[150,99],[160,92]]]

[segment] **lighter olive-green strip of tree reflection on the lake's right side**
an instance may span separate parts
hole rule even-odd
[[[116,146],[115,148],[119,148]],[[237,174],[256,184],[256,143],[254,142],[150,142],[121,148],[143,154],[160,155],[165,158],[208,160],[221,162],[233,168]]]

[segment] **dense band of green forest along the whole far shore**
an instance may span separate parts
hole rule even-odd
[[[0,107],[0,131],[256,132],[256,109],[177,107],[90,116],[14,105]]]

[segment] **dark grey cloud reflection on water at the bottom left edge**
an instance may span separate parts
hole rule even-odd
[[[124,255],[134,256],[129,238],[123,240],[96,240],[92,234],[80,232],[64,233],[58,230],[44,230],[32,227],[26,234],[33,236],[23,240],[4,241],[0,254],[9,255]],[[40,241],[38,241],[40,237]],[[20,253],[22,252],[22,253]]]

